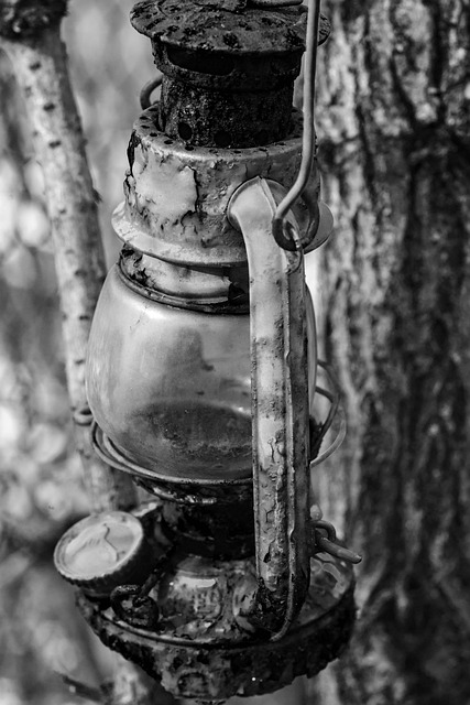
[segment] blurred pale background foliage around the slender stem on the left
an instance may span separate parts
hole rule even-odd
[[[154,74],[131,0],[75,0],[63,23],[108,262],[139,91]],[[0,705],[67,705],[61,674],[98,685],[110,654],[53,568],[63,531],[87,513],[72,438],[61,315],[41,166],[11,67],[0,55]]]

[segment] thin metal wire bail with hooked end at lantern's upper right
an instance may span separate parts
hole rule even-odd
[[[320,21],[320,0],[308,0],[308,21],[306,55],[304,69],[304,131],[302,137],[302,161],[295,183],[280,203],[273,218],[273,235],[284,250],[295,251],[300,247],[293,237],[286,215],[302,196],[310,177],[315,158],[315,73],[317,68],[318,28]]]

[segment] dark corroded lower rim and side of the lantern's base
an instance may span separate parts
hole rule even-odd
[[[228,562],[225,563],[227,570]],[[214,581],[217,587],[223,584],[222,566],[219,567],[220,579]],[[236,566],[236,571],[240,567]],[[272,693],[299,675],[311,677],[345,649],[356,616],[352,570],[327,554],[317,554],[311,568],[311,585],[300,615],[285,637],[274,642],[264,634],[244,632],[234,622],[228,628],[225,619],[208,626],[200,606],[196,615],[199,629],[193,637],[181,625],[175,627],[174,619],[162,619],[154,630],[132,626],[117,618],[111,607],[81,593],[78,606],[106,646],[161,681],[175,697],[223,702],[233,695]],[[230,584],[230,575],[225,584]],[[197,589],[200,592],[200,587]],[[218,589],[214,593],[220,595]],[[228,594],[220,595],[222,601],[227,597]],[[188,592],[186,598],[192,599]],[[184,610],[182,605],[181,621],[185,619]],[[217,621],[220,633],[215,638]]]

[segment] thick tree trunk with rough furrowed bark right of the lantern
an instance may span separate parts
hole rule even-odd
[[[470,698],[470,4],[330,0],[317,131],[337,229],[327,358],[349,433],[319,469],[364,555],[325,705]]]

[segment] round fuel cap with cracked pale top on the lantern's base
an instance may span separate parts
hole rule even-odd
[[[58,541],[54,562],[68,583],[95,597],[150,573],[150,550],[139,519],[124,511],[87,517]]]

